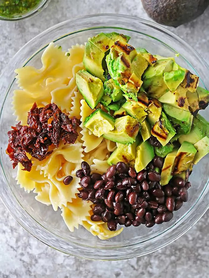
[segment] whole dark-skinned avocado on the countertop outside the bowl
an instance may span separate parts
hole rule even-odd
[[[177,27],[200,16],[208,0],[142,0],[144,10],[159,24]]]

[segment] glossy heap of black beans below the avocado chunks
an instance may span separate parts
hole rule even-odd
[[[76,172],[82,187],[78,197],[95,204],[91,220],[107,222],[111,231],[117,229],[117,224],[125,227],[145,224],[150,228],[170,221],[173,211],[188,200],[187,189],[191,184],[175,177],[161,186],[163,163],[162,157],[155,156],[147,169],[136,173],[124,162],[118,162],[100,175],[91,173],[89,164],[82,162]]]

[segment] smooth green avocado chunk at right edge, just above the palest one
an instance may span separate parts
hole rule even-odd
[[[209,136],[209,123],[201,115],[197,114],[193,118],[192,128],[189,134],[181,135],[178,140],[181,144],[184,141],[195,144],[205,136]]]

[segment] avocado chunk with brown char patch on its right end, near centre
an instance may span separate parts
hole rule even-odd
[[[127,115],[117,118],[114,130],[103,134],[103,137],[122,144],[132,144],[135,142],[138,132],[139,122]]]

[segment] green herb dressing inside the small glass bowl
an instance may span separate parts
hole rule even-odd
[[[41,0],[0,0],[0,16],[13,18],[36,7]]]

